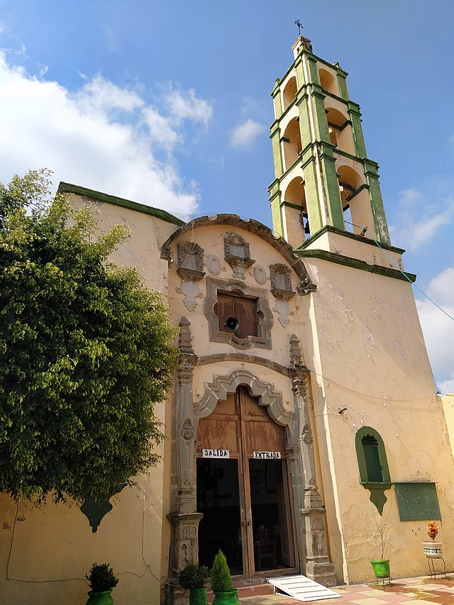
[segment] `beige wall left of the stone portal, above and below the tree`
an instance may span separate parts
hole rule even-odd
[[[73,202],[85,203],[79,196]],[[160,259],[160,249],[177,226],[120,206],[96,205],[102,229],[131,225],[132,237],[112,260],[137,267],[148,287],[166,294],[167,261]],[[170,406],[155,408],[162,421],[167,421],[166,408]],[[89,587],[84,575],[94,562],[109,562],[120,579],[114,590],[116,605],[159,603],[159,578],[167,577],[168,567],[168,553],[161,552],[162,523],[169,506],[167,450],[168,443],[160,445],[156,451],[162,462],[149,475],[137,477],[137,487],[125,488],[111,499],[114,508],[96,533],[72,501],[33,509],[0,494],[0,601],[9,605],[85,602]],[[23,516],[25,520],[18,521]]]

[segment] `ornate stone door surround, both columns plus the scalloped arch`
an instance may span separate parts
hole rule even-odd
[[[202,515],[196,512],[196,474],[194,464],[194,438],[199,418],[214,411],[218,399],[235,392],[240,384],[250,394],[260,397],[268,407],[270,416],[287,433],[287,452],[292,471],[294,508],[297,515],[297,543],[299,562],[297,567],[308,577],[326,586],[336,584],[334,566],[328,559],[325,531],[325,509],[316,484],[314,445],[311,421],[306,397],[306,379],[309,370],[301,360],[299,340],[295,335],[289,340],[294,410],[282,406],[282,396],[269,382],[264,382],[248,370],[233,370],[226,376],[216,376],[206,384],[204,397],[194,405],[192,374],[198,358],[191,345],[190,323],[183,317],[179,323],[179,371],[174,408],[174,440],[172,442],[172,547],[170,576],[176,575],[188,562],[198,560],[198,527]],[[183,603],[182,594],[174,589],[170,603]]]

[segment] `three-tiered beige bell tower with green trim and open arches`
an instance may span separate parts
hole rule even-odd
[[[389,244],[378,165],[367,158],[348,74],[316,57],[301,35],[292,50],[294,62],[272,91],[275,234],[301,249],[315,240],[323,248],[320,235],[327,231]]]

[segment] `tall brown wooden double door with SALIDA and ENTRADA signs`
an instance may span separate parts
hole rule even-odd
[[[221,548],[232,573],[253,577],[293,568],[292,496],[285,433],[238,387],[197,431],[199,560],[211,566]]]

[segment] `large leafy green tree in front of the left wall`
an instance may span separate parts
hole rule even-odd
[[[161,295],[109,255],[93,209],[47,170],[0,184],[0,491],[106,499],[156,464],[153,404],[175,369]]]

